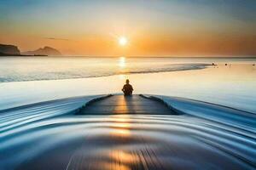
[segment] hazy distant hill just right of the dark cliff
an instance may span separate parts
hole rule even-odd
[[[23,52],[24,55],[61,55],[61,52],[55,48],[44,47],[38,48],[35,51],[26,51]]]

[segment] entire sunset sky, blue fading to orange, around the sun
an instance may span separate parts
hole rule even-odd
[[[256,56],[256,1],[0,0],[0,43],[67,55]]]

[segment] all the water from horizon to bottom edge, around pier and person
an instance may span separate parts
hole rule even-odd
[[[254,169],[254,63],[233,58],[1,58],[0,169]],[[120,93],[126,78],[135,94],[158,94],[185,114],[74,114],[99,97],[88,95]]]

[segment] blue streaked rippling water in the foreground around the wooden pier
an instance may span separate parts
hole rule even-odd
[[[256,168],[255,115],[158,97],[184,114],[74,115],[94,96],[2,111],[0,168]]]

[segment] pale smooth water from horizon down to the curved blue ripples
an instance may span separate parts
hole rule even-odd
[[[256,112],[255,63],[256,58],[0,58],[0,109],[120,93],[129,78],[135,94],[199,99]]]

